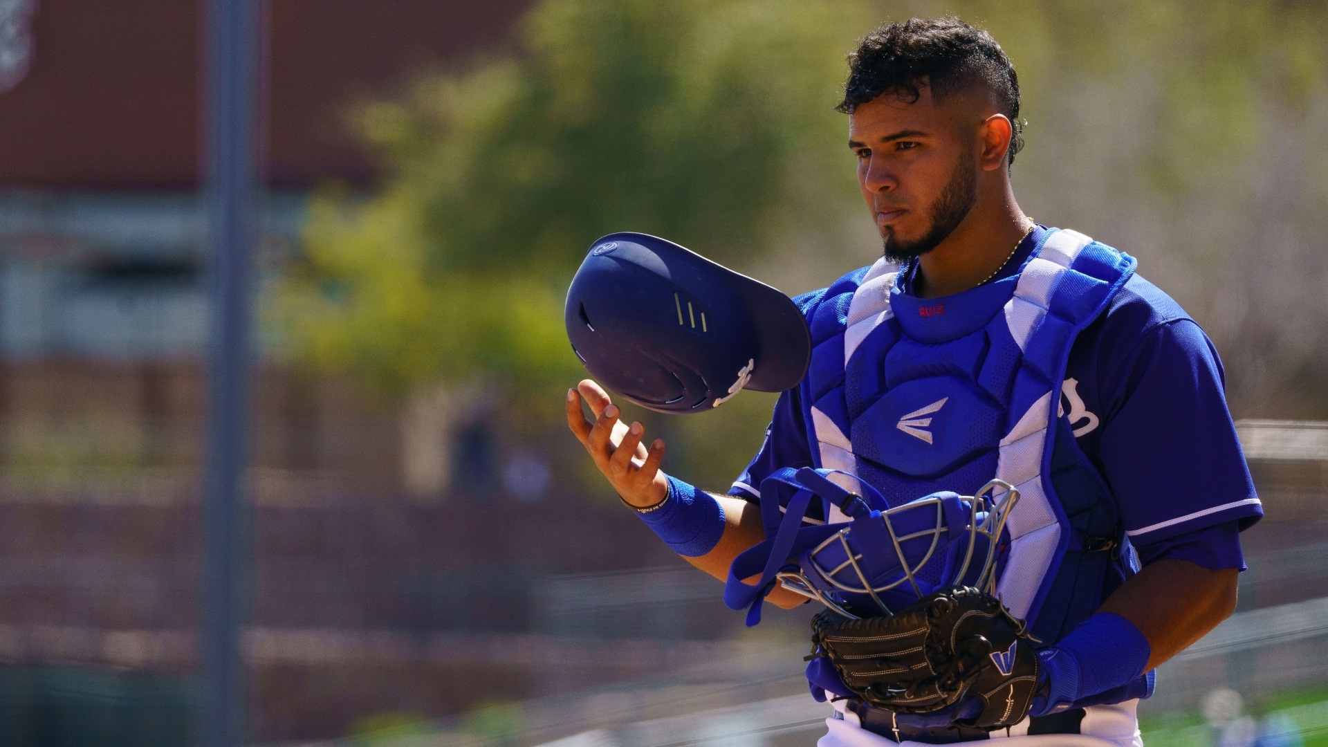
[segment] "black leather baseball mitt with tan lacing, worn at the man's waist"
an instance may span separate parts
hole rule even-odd
[[[954,723],[992,731],[1024,720],[1037,690],[1040,665],[1024,623],[971,586],[942,589],[888,617],[822,610],[811,641],[813,657],[830,659],[849,690],[896,714],[957,711],[979,698],[981,711]]]

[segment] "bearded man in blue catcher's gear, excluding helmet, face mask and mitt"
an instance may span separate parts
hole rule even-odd
[[[1041,642],[1038,687],[1029,718],[991,736],[1137,746],[1151,670],[1235,609],[1239,532],[1262,516],[1216,351],[1127,255],[1020,210],[1019,84],[989,35],[914,19],[866,37],[850,65],[839,109],[884,258],[795,299],[809,374],[729,494],[661,473],[663,441],[643,448],[592,381],[579,393],[596,420],[570,391],[568,425],[623,500],[717,578],[765,538],[754,501],[780,468],[842,469],[891,505],[1016,484],[999,591]],[[845,520],[827,504],[807,516]],[[988,738],[853,698],[835,708],[822,747]]]

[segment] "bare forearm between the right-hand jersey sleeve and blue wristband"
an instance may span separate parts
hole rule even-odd
[[[1236,609],[1235,569],[1159,560],[1126,581],[1098,611],[1130,621],[1151,647],[1150,670],[1183,651]]]

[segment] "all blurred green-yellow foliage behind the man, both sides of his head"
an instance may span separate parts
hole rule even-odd
[[[599,235],[823,286],[879,250],[862,215],[862,247],[834,254],[857,225],[831,110],[845,54],[943,13],[1020,72],[1021,205],[1138,255],[1216,342],[1238,415],[1328,416],[1324,3],[542,0],[513,52],[356,108],[385,177],[315,199],[270,295],[279,350],[390,395],[481,383],[548,423],[584,375],[562,299]],[[627,413],[668,440],[669,471],[722,486],[769,404]]]

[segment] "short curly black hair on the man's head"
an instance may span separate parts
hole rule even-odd
[[[908,19],[867,35],[849,56],[849,81],[835,106],[851,114],[882,94],[916,101],[919,85],[931,88],[936,101],[952,93],[985,88],[1015,125],[1009,162],[1024,148],[1024,121],[1019,118],[1019,76],[1015,65],[989,33],[956,17]]]

